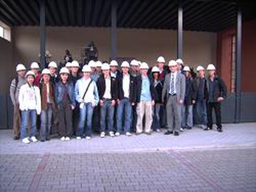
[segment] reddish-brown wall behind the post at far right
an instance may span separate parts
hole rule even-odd
[[[226,82],[228,90],[231,89],[231,44],[232,36],[236,33],[234,28],[221,31],[217,35],[217,66],[219,73]],[[252,77],[256,72],[256,19],[243,23],[242,29],[242,91],[255,92],[256,84]]]

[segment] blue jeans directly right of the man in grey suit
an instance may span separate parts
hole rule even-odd
[[[193,127],[193,105],[183,105],[181,107],[181,127],[185,128],[186,126]]]

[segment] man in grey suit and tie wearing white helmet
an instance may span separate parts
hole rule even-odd
[[[174,136],[179,136],[181,124],[181,106],[185,98],[186,79],[183,74],[178,72],[177,62],[169,61],[169,69],[171,73],[167,74],[164,80],[162,93],[162,101],[166,103],[167,113],[167,132],[165,135],[173,133]]]

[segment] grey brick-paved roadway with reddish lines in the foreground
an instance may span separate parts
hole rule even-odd
[[[0,191],[255,191],[256,148],[0,155]]]

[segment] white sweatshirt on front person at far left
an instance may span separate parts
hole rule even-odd
[[[36,110],[37,114],[41,113],[41,96],[37,86],[28,84],[20,87],[19,93],[20,110]]]

